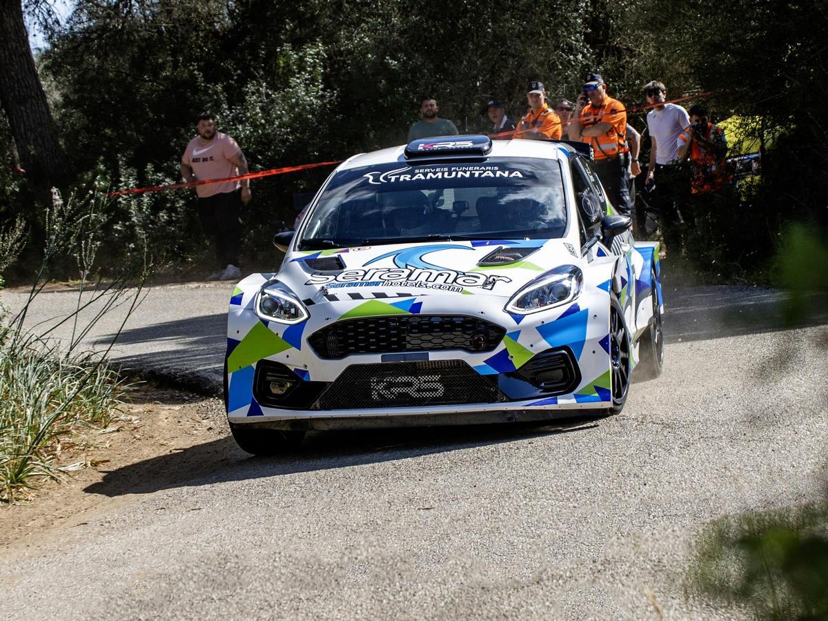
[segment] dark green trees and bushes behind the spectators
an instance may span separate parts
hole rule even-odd
[[[65,27],[50,28],[39,65],[75,176],[118,188],[175,181],[205,108],[255,171],[396,145],[426,93],[476,132],[491,97],[519,116],[529,79],[542,79],[551,99],[575,99],[598,70],[628,107],[644,103],[650,79],[671,96],[713,92],[714,120],[741,119],[729,126],[732,148],[763,151],[749,195],[700,205],[689,231],[691,261],[732,275],[766,267],[788,222],[828,219],[828,130],[812,105],[828,95],[826,30],[826,0],[676,0],[669,10],[643,0],[516,0],[508,10],[494,0],[103,0],[79,2]],[[630,123],[644,130],[645,113],[632,111]],[[243,212],[249,262],[268,262],[272,233],[294,219],[291,195],[326,174],[254,183]],[[0,222],[26,213],[26,188],[9,187]],[[171,243],[169,257],[190,262],[202,252],[194,202],[188,190],[130,197],[114,219],[137,218]],[[31,235],[41,240],[41,228]]]

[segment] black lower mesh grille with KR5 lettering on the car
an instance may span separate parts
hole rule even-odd
[[[462,360],[351,364],[320,397],[323,410],[497,403],[506,397]]]

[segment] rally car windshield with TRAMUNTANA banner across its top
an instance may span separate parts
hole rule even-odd
[[[392,162],[338,172],[299,248],[345,248],[431,239],[560,238],[566,232],[556,160]]]

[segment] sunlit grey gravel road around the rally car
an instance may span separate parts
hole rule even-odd
[[[152,288],[116,359],[218,386],[230,288]],[[45,296],[33,320],[72,303]],[[142,460],[85,489],[103,508],[76,526],[0,550],[4,616],[739,617],[686,598],[691,545],[724,513],[820,496],[828,315],[784,328],[758,288],[665,298],[664,373],[621,416],[321,432],[278,459],[224,436]]]

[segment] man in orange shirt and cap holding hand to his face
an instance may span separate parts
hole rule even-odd
[[[590,142],[595,156],[595,172],[609,202],[620,214],[628,215],[627,110],[623,103],[607,94],[607,86],[600,75],[586,76],[584,91],[575,103],[575,118],[578,120],[570,123],[570,137]]]

